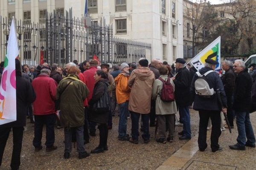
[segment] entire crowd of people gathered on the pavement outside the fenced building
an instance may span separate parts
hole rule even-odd
[[[183,126],[178,133],[179,140],[189,140],[192,137],[191,106],[199,112],[200,151],[207,148],[209,119],[212,122],[211,150],[222,150],[218,144],[221,111],[227,112],[226,121],[231,128],[234,128],[236,117],[239,135],[237,143],[230,145],[230,149],[255,147],[249,115],[253,103],[253,79],[242,60],[236,60],[234,64],[223,61],[222,76],[215,71],[219,63],[210,58],[205,60],[205,67],[200,71],[186,64],[183,58],[177,58],[175,65],[158,59],[153,59],[150,64],[147,59],[140,59],[137,63],[123,62],[112,66],[99,64],[96,60],[81,64],[74,60],[63,68],[47,63],[21,67],[18,59],[15,62],[17,121],[0,125],[0,164],[9,132],[11,128],[13,130],[13,170],[20,166],[26,116],[35,125],[32,142],[35,152],[43,148],[44,125],[47,152],[57,149],[55,126],[64,129],[65,159],[70,158],[72,142],[77,143],[79,159],[90,155],[84,144],[90,142],[90,136],[96,136],[96,127],[99,129],[99,146],[90,153],[108,150],[108,130],[112,129],[112,116],[117,114],[117,139],[120,141],[138,144],[141,130],[143,142],[147,144],[150,142],[149,127],[155,127],[157,142],[174,142],[175,125]],[[252,75],[256,74],[254,69],[251,70]],[[179,113],[179,120],[176,120],[176,113]],[[129,117],[131,135],[127,130]]]

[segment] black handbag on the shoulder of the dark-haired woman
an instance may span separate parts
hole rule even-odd
[[[110,97],[107,91],[107,87],[105,85],[104,94],[100,97],[100,99],[93,104],[93,112],[96,113],[104,113],[110,111]]]

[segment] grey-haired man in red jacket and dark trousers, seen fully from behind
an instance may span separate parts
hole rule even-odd
[[[54,100],[56,99],[57,83],[49,77],[50,74],[51,71],[44,68],[41,70],[41,74],[32,82],[37,96],[33,103],[35,116],[33,145],[36,152],[43,148],[41,139],[44,124],[46,124],[46,151],[57,149],[57,146],[53,145],[55,142],[54,124],[56,122]]]

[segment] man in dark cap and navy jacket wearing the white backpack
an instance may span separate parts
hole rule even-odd
[[[198,74],[195,74],[190,88],[191,98],[194,99],[193,109],[199,112],[199,135],[198,135],[198,147],[200,151],[204,151],[207,148],[206,137],[207,137],[207,125],[209,118],[212,122],[212,133],[211,133],[211,149],[212,152],[218,152],[222,150],[222,147],[218,144],[219,136],[221,135],[221,110],[223,112],[227,111],[227,98],[224,91],[224,86],[222,84],[221,78],[218,73],[215,72],[217,61],[207,58],[205,60],[205,67],[202,68],[199,73],[206,75],[207,83],[209,88],[213,88],[215,93],[217,89],[222,96],[222,102],[225,108],[220,108],[218,103],[218,97],[216,94],[211,97],[200,96],[200,94],[195,93],[195,80],[198,79]],[[211,71],[211,72],[210,72]]]

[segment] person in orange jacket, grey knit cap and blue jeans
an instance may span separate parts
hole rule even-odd
[[[120,66],[121,73],[115,78],[116,82],[116,101],[119,104],[119,127],[118,127],[118,140],[128,141],[130,139],[127,135],[127,118],[129,115],[128,103],[130,88],[128,87],[129,65],[123,62]]]

